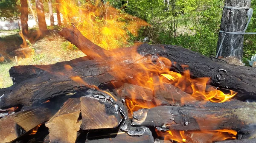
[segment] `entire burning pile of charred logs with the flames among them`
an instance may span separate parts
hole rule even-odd
[[[12,67],[0,143],[256,142],[255,68],[173,45],[105,50],[73,23],[57,32],[87,56]]]

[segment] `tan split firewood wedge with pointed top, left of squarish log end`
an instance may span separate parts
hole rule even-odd
[[[61,109],[47,122],[49,128],[49,141],[51,143],[75,143],[77,131],[81,121],[78,121],[81,113],[79,98],[68,99]]]

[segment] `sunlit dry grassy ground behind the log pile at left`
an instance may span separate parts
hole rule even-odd
[[[50,32],[44,38],[36,38],[36,30],[30,30],[32,37],[27,46],[23,46],[23,40],[19,31],[0,31],[0,88],[12,85],[9,69],[17,65],[54,64],[85,56],[75,46],[54,32]]]

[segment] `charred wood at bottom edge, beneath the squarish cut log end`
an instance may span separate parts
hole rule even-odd
[[[88,138],[85,143],[154,143],[154,138],[149,129],[141,136],[130,136],[126,132],[116,132],[102,136],[102,139],[91,140]]]

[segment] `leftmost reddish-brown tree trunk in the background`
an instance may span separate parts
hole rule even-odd
[[[20,0],[21,5],[21,15],[20,15],[20,21],[21,21],[21,28],[22,28],[22,34],[24,37],[28,37],[29,35],[29,26],[28,26],[28,3],[26,0]]]

